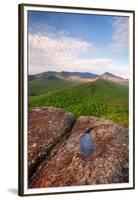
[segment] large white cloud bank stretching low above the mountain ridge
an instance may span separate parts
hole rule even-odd
[[[29,73],[80,71],[102,74],[106,71],[127,77],[127,68],[109,58],[93,58],[93,44],[64,34],[58,37],[29,34]],[[89,55],[89,58],[88,56]],[[91,55],[91,56],[90,56]]]

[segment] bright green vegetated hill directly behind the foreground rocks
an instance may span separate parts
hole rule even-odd
[[[29,106],[55,106],[76,117],[94,115],[128,127],[128,86],[97,80],[29,97]]]

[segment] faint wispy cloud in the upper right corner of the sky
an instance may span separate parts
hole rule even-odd
[[[129,44],[129,20],[128,17],[114,17],[112,24],[113,37],[110,47],[114,53],[121,53]]]

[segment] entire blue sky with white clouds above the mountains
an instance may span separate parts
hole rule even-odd
[[[28,11],[29,74],[110,72],[129,78],[129,18]]]

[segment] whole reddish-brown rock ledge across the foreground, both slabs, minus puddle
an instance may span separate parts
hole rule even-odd
[[[56,137],[62,140],[52,146],[49,156],[38,165],[29,179],[29,188],[128,182],[128,129],[92,116],[83,116],[74,122],[73,114],[62,109],[30,110],[30,163],[31,153],[36,160]],[[63,139],[69,129],[68,137]],[[80,138],[88,130],[95,142],[95,151],[85,157],[80,152]]]

